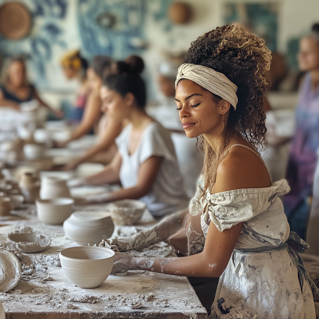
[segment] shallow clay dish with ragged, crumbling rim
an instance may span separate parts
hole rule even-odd
[[[7,240],[13,249],[24,253],[38,253],[50,246],[51,240],[33,232],[30,227],[19,228],[7,235]]]

